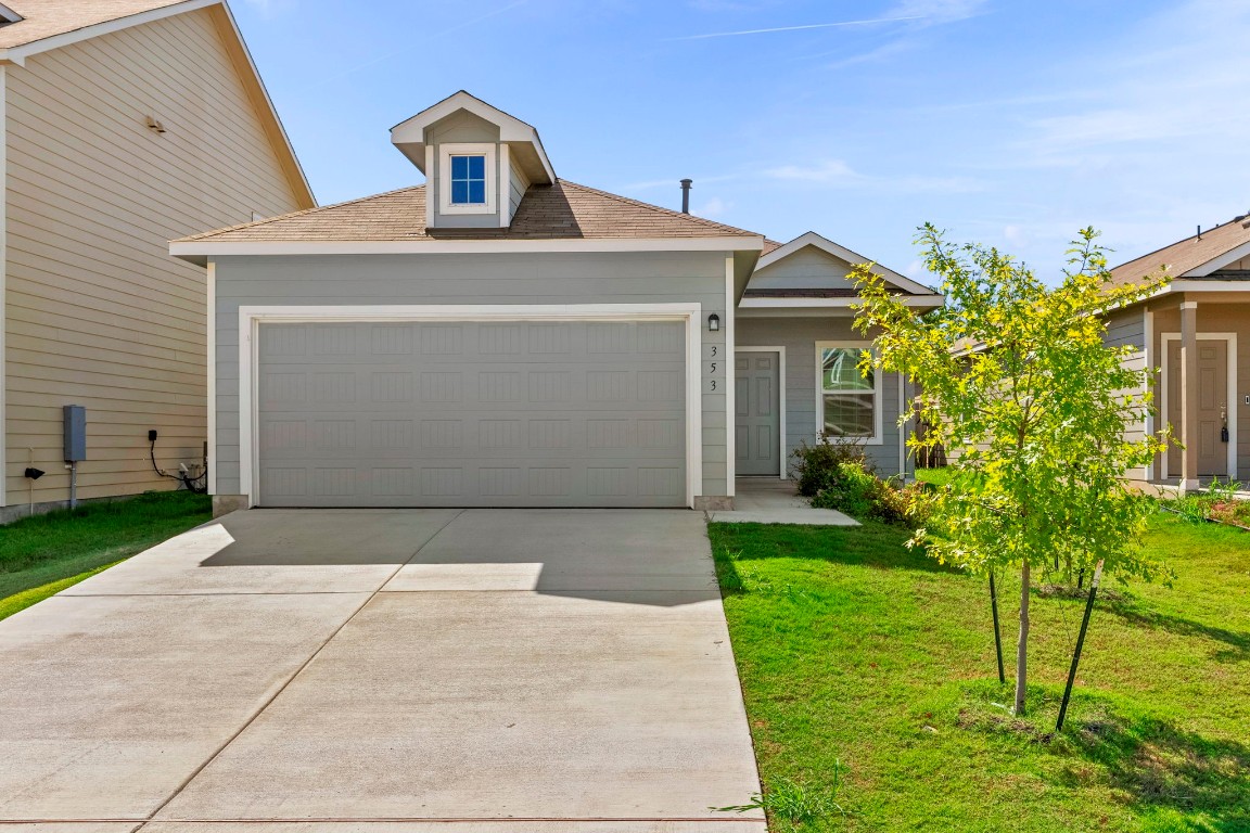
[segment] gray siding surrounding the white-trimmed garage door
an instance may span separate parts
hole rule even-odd
[[[706,254],[532,254],[326,257],[222,257],[216,266],[218,493],[239,492],[239,307],[439,303],[696,302],[701,320],[725,320],[725,259]],[[725,330],[702,345],[720,345]],[[704,362],[702,482],[724,496],[725,377],[710,392]],[[724,367],[720,366],[724,373]],[[698,482],[698,481],[696,481]]]

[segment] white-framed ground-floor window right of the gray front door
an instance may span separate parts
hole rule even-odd
[[[860,371],[868,353],[859,345],[816,345],[816,415],[829,437],[880,442],[880,387],[878,373]]]

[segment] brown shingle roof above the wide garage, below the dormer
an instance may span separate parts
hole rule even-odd
[[[596,240],[754,232],[559,180],[531,186],[508,229],[426,229],[425,186],[209,231],[184,241]]]

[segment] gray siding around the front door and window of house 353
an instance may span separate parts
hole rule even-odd
[[[751,286],[755,286],[752,278]],[[739,347],[785,347],[786,397],[786,460],[800,443],[816,442],[820,433],[816,416],[816,342],[862,342],[864,336],[851,328],[851,318],[742,318],[739,317]],[[899,443],[905,435],[899,431],[899,375],[886,373],[881,380],[881,445],[864,446],[865,456],[881,475],[899,473]]]

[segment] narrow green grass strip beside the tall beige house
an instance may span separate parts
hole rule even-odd
[[[0,619],[211,517],[211,498],[160,492],[0,527]]]

